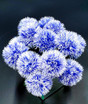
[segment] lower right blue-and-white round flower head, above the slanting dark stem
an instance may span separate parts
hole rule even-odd
[[[83,67],[75,60],[68,59],[64,73],[59,81],[66,86],[76,85],[82,79]]]

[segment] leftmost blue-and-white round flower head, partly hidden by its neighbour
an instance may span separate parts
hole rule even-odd
[[[25,44],[17,41],[17,38],[11,39],[9,44],[3,49],[2,56],[8,66],[15,69],[19,56],[29,48]]]

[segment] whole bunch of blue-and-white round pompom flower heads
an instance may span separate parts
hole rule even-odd
[[[58,78],[66,86],[76,85],[83,67],[75,61],[86,46],[83,37],[68,31],[53,17],[39,21],[26,17],[19,22],[18,36],[3,49],[6,64],[25,78],[29,93],[44,96]],[[70,59],[69,59],[69,58]]]

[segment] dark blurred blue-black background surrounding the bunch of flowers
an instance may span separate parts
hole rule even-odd
[[[27,92],[24,79],[1,56],[8,41],[17,35],[19,21],[27,16],[38,20],[53,16],[88,43],[88,0],[0,0],[0,104],[41,104],[39,98]],[[45,104],[88,104],[88,47],[77,61],[84,67],[83,80],[57,92]],[[55,80],[52,90],[60,85]]]

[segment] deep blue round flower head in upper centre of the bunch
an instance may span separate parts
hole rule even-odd
[[[43,29],[34,36],[34,45],[40,49],[40,52],[56,48],[57,35],[50,31]]]

